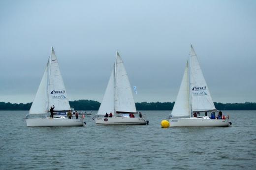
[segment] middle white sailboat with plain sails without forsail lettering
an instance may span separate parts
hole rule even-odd
[[[114,116],[103,117],[105,113]],[[118,52],[95,120],[97,125],[146,125],[149,122],[136,111],[128,74]]]

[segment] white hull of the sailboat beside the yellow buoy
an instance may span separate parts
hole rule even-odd
[[[228,127],[228,119],[171,118],[170,127]]]

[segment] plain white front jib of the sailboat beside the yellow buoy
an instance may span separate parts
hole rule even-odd
[[[190,105],[189,105],[189,63],[187,62],[185,72],[182,78],[181,86],[175,104],[172,109],[172,116],[190,116]]]

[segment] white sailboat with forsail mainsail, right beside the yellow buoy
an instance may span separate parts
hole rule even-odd
[[[231,125],[228,116],[224,119],[211,119],[207,115],[215,114],[217,110],[192,44],[190,47],[190,57],[169,119],[170,127],[228,127]],[[205,115],[200,116],[200,113]]]

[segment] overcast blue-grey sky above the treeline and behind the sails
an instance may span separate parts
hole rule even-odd
[[[70,101],[101,102],[118,50],[135,102],[172,102],[190,43],[214,102],[256,102],[256,0],[0,0],[0,101],[33,101],[53,46]]]

